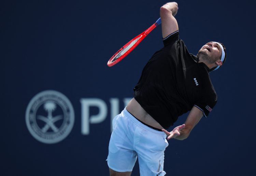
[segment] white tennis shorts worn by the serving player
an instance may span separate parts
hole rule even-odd
[[[166,134],[154,130],[131,115],[126,108],[113,119],[108,166],[117,172],[131,172],[139,158],[141,176],[163,176]]]

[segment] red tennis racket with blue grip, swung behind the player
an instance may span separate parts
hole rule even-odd
[[[120,48],[108,61],[108,66],[111,67],[124,59],[139,43],[149,34],[155,27],[161,24],[161,18],[159,18],[151,27],[142,32],[140,35],[134,37],[130,42]]]

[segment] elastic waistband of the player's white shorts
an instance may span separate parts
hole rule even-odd
[[[150,132],[162,135],[162,136],[166,135],[163,131],[158,131],[158,130],[155,130],[155,129],[151,128],[151,127],[148,127],[147,125],[144,125],[141,121],[139,121],[139,119],[137,119],[129,111],[127,111],[126,107],[122,111],[122,113],[124,113],[134,124],[138,125],[139,127],[143,128],[143,129],[145,129],[147,131],[150,131]]]

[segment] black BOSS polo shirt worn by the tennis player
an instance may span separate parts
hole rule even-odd
[[[209,68],[188,52],[179,31],[163,44],[143,68],[134,98],[165,129],[193,106],[207,117],[217,102]]]

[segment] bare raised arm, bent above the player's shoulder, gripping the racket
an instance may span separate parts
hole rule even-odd
[[[178,23],[174,16],[177,14],[178,4],[176,2],[168,2],[160,8],[160,17],[162,22],[162,37],[165,38],[169,34],[179,30]]]

